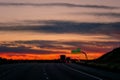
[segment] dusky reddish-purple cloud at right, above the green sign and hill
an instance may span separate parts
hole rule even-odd
[[[74,48],[81,48],[87,52],[101,52],[105,53],[120,46],[120,42],[64,42],[66,45],[75,46]]]

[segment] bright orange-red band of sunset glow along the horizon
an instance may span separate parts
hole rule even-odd
[[[11,53],[12,54],[12,53]],[[60,54],[1,54],[0,57],[6,58],[6,59],[13,59],[13,60],[57,60],[60,59]],[[83,54],[61,54],[61,55],[66,55],[66,57],[71,57],[71,59],[77,59],[77,60],[83,60],[86,59]],[[103,54],[88,54],[89,60],[96,59]]]

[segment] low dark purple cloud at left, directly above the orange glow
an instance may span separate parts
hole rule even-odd
[[[24,46],[18,46],[18,47],[0,46],[0,53],[53,54],[53,53],[65,53],[65,52],[51,51],[51,50],[34,50]]]

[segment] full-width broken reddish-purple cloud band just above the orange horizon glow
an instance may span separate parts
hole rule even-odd
[[[13,44],[17,44],[17,47],[9,47]],[[24,45],[33,45],[37,48],[40,48],[40,50],[34,50],[31,49],[31,47],[25,47],[20,46],[18,44],[24,44]],[[65,47],[66,46],[66,47]],[[6,45],[5,43],[0,45],[0,53],[2,52],[15,52],[15,53],[38,53],[38,54],[50,54],[50,53],[66,53],[65,51],[60,50],[73,50],[76,48],[81,48],[82,50],[85,50],[87,52],[101,52],[105,53],[113,48],[119,47],[120,42],[82,42],[82,41],[43,41],[43,40],[33,40],[33,41],[15,41],[10,42],[9,45]],[[47,50],[48,49],[48,50]],[[52,50],[58,50],[58,51],[52,51]]]

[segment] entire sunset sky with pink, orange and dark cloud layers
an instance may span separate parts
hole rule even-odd
[[[0,57],[95,59],[120,47],[120,0],[0,0]]]

